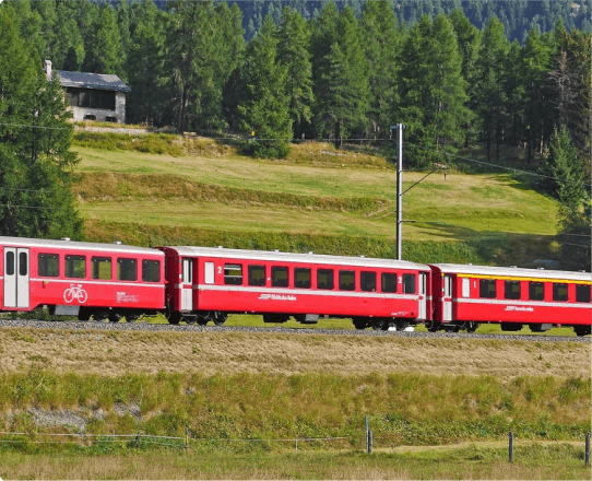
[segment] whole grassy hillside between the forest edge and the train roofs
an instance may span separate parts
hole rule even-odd
[[[174,136],[78,136],[75,190],[98,241],[392,257],[396,173],[383,157],[295,145],[284,161]],[[157,153],[151,153],[157,152]],[[405,173],[404,188],[425,173]],[[404,196],[404,257],[553,258],[556,203],[509,175],[436,173]]]

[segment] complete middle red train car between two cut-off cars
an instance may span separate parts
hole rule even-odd
[[[424,321],[429,268],[387,259],[204,247],[161,247],[167,259],[167,316],[221,325],[228,314],[267,322],[352,318],[357,329]]]

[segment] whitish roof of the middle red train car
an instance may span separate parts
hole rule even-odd
[[[224,247],[191,247],[176,246],[166,247],[174,249],[179,256],[186,257],[215,257],[224,259],[277,261],[277,262],[301,262],[301,263],[321,263],[333,266],[368,267],[382,269],[411,269],[429,270],[429,267],[423,263],[410,262],[406,260],[394,259],[375,259],[370,257],[346,257],[328,256],[324,254],[293,254],[269,250],[247,250],[247,249],[227,249]]]

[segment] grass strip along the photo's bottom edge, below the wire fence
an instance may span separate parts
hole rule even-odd
[[[35,453],[31,450],[29,453]],[[299,450],[267,453],[264,449],[228,455],[214,449],[189,453],[129,448],[113,454],[107,446],[95,449],[38,454],[0,451],[4,479],[49,481],[571,481],[588,479],[583,447],[568,444],[533,444],[516,450],[509,464],[507,450],[475,444],[469,447],[398,454]]]

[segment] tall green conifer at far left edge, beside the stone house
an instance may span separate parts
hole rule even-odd
[[[63,91],[20,28],[12,7],[0,4],[0,234],[80,238]]]

